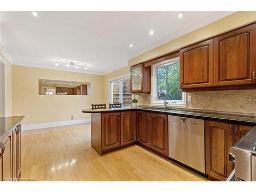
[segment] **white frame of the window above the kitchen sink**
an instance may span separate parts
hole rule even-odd
[[[164,67],[167,65],[172,65],[172,63],[177,62],[177,60],[179,61],[180,57],[175,57],[160,63],[157,63],[155,65],[152,65],[152,84],[151,84],[151,88],[152,88],[152,94],[151,94],[151,104],[152,105],[164,105],[164,100],[158,100],[157,98],[157,68],[159,67]],[[180,61],[179,61],[180,63]],[[182,92],[182,100],[166,100],[167,102],[169,102],[167,104],[167,106],[182,106],[182,107],[186,107],[187,106],[187,102],[186,102],[186,93]]]

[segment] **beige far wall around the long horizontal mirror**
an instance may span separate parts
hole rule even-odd
[[[91,82],[91,95],[38,95],[38,79]],[[102,102],[102,76],[12,66],[13,115],[25,115],[23,124],[90,118],[82,109]]]

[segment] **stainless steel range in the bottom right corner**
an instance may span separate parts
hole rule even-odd
[[[231,174],[227,181],[256,181],[256,127],[229,151],[229,160],[234,162],[234,179]]]

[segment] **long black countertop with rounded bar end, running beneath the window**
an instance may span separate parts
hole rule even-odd
[[[137,107],[137,108],[135,108],[132,106],[127,106],[127,107],[123,107],[123,108],[112,108],[112,109],[109,109],[109,108],[97,109],[97,110],[85,109],[85,110],[82,110],[82,113],[110,113],[110,112],[122,112],[122,111],[133,111],[133,110],[256,126],[256,118],[254,118],[254,117],[248,117],[248,116],[242,116],[242,115],[239,116],[239,115],[234,115],[234,114],[225,114],[224,115],[224,114],[209,113],[209,112],[161,109],[161,108],[152,108],[152,107],[148,107],[148,108]]]

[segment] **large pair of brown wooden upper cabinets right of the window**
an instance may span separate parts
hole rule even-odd
[[[180,50],[183,92],[256,89],[256,24]]]

